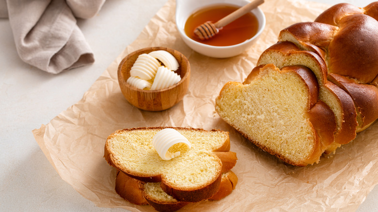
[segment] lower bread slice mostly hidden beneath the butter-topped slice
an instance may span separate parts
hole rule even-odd
[[[209,200],[220,200],[235,189],[236,174],[229,170],[222,173],[221,185],[218,192]],[[165,193],[158,182],[142,182],[118,171],[115,183],[116,192],[127,201],[137,205],[150,204],[157,211],[173,212],[189,202],[180,202]]]

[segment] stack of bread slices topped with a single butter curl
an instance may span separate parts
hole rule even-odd
[[[152,141],[165,128],[124,129],[108,136],[104,157],[117,169],[116,192],[133,204],[149,204],[160,212],[228,196],[237,183],[231,171],[237,158],[230,151],[228,132],[170,127],[191,147],[179,146],[178,156],[163,160]]]

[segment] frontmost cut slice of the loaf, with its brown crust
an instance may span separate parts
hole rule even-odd
[[[334,120],[322,123],[332,118],[332,111],[318,101],[315,74],[301,65],[284,66],[280,70],[267,64],[253,69],[246,81],[223,86],[215,105],[220,117],[252,143],[286,163],[295,166],[317,163],[327,148],[322,140],[331,140],[326,144],[330,145],[336,126]]]

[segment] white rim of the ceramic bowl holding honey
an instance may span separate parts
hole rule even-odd
[[[246,2],[248,2],[248,1],[246,1]],[[205,5],[203,7],[207,7],[207,6],[211,6],[211,5],[216,5],[216,4],[217,3],[215,3],[215,4],[214,3],[213,4],[208,4],[208,5]],[[232,3],[227,3],[227,4],[232,4]],[[234,5],[236,5],[236,4],[234,4]],[[236,6],[240,7],[239,5],[236,5]],[[193,14],[195,11],[196,10],[191,11],[190,14]],[[253,11],[257,11],[257,13],[260,13],[261,17],[259,18],[259,15],[254,14]],[[247,39],[247,40],[245,40],[245,41],[243,41],[243,42],[241,42],[239,44],[235,44],[235,45],[216,46],[216,45],[207,45],[207,44],[200,43],[198,41],[195,41],[195,40],[189,38],[189,36],[185,33],[184,29],[182,29],[182,28],[180,28],[178,26],[178,23],[177,23],[178,22],[178,16],[177,16],[177,14],[176,14],[176,17],[175,17],[175,21],[176,21],[176,27],[177,27],[179,33],[181,34],[181,36],[183,36],[186,40],[190,41],[194,45],[198,45],[198,46],[205,47],[205,48],[212,48],[212,49],[215,49],[215,50],[217,50],[217,49],[218,50],[219,49],[223,50],[223,49],[231,49],[231,48],[235,48],[235,47],[238,47],[238,46],[246,45],[249,42],[251,42],[251,41],[255,40],[256,38],[258,38],[260,36],[260,34],[264,31],[265,26],[266,26],[266,17],[265,17],[264,12],[259,7],[257,7],[257,8],[255,8],[255,9],[252,10],[252,13],[256,16],[256,18],[259,21],[259,23],[260,23],[260,20],[261,20],[261,25],[259,25],[259,29],[257,30],[256,34],[252,38]],[[186,20],[187,19],[188,19],[188,17],[186,17]],[[186,22],[186,20],[185,20],[185,22]],[[184,24],[184,26],[185,26],[185,24]]]

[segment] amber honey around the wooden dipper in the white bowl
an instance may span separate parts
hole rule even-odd
[[[247,13],[220,29],[219,33],[208,40],[201,40],[194,34],[194,30],[201,24],[210,21],[217,22],[240,7],[231,4],[216,4],[202,8],[189,16],[185,23],[185,33],[192,40],[214,46],[228,46],[243,43],[252,38],[258,30],[255,15]]]

